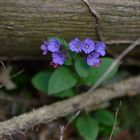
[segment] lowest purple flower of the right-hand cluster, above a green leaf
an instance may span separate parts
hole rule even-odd
[[[89,66],[98,66],[100,64],[99,54],[92,52],[87,56],[87,64]]]

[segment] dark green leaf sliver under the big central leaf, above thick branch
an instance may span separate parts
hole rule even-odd
[[[75,93],[74,93],[73,89],[66,89],[66,90],[63,90],[63,91],[58,92],[56,94],[53,94],[53,96],[60,97],[60,98],[72,97],[74,95],[75,95]]]

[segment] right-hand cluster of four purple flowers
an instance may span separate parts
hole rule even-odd
[[[84,52],[86,62],[89,66],[98,66],[100,64],[100,56],[104,56],[106,45],[102,41],[94,42],[88,38],[80,41],[75,38],[69,43],[70,50],[76,53]]]

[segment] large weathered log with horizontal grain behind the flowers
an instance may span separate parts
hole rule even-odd
[[[102,40],[116,52],[140,37],[140,0],[89,0],[100,14]],[[0,0],[0,56],[39,56],[48,36],[96,38],[95,18],[82,0]],[[135,55],[140,56],[140,47]],[[41,55],[40,55],[41,56]]]

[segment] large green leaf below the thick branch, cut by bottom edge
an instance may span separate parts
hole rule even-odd
[[[90,115],[80,115],[75,121],[75,126],[85,140],[96,140],[99,133],[99,125]]]

